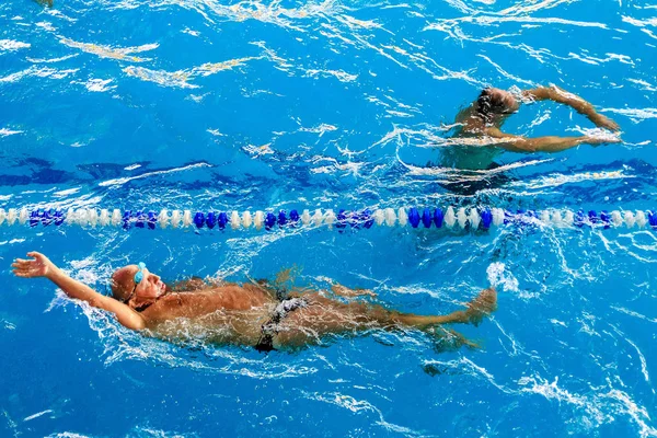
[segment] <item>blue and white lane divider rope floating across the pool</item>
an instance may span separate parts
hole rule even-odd
[[[95,209],[95,208],[69,208],[61,209],[38,208],[27,210],[26,208],[0,208],[0,226],[28,224],[30,227],[49,226],[55,227],[82,226],[82,227],[122,227],[128,230],[135,228],[207,228],[219,230],[227,228],[272,230],[283,227],[301,226],[325,226],[330,229],[343,230],[345,228],[369,229],[373,226],[406,227],[412,228],[447,228],[489,229],[508,223],[552,226],[557,228],[567,227],[593,227],[593,228],[645,228],[646,226],[657,230],[657,210],[601,210],[598,215],[595,210],[573,211],[569,209],[545,209],[545,210],[507,210],[489,207],[446,207],[446,208],[383,208],[365,210],[338,210],[315,209],[312,214],[309,209],[292,209],[288,212],[279,210],[274,212],[257,210],[239,212],[233,211],[195,211],[192,210],[119,210]]]

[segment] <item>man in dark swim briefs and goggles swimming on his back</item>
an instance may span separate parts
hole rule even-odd
[[[206,342],[254,347],[260,351],[295,349],[318,344],[331,334],[359,334],[372,328],[418,328],[430,332],[442,324],[477,324],[497,306],[495,289],[483,290],[464,310],[448,315],[401,313],[364,301],[345,302],[327,291],[273,288],[266,283],[207,284],[192,278],[169,287],[143,263],[128,265],[112,275],[112,297],[72,279],[45,255],[27,253],[11,265],[16,277],[45,277],[73,299],[113,313],[127,328],[168,341],[196,334]],[[334,297],[346,299],[373,292],[332,287]],[[221,328],[221,330],[217,330]],[[203,336],[204,333],[211,333]],[[475,346],[453,331],[446,334],[457,346]]]

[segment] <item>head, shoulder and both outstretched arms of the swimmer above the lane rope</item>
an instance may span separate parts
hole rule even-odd
[[[619,125],[611,118],[596,112],[593,105],[584,99],[570,94],[557,87],[539,87],[525,90],[521,96],[514,96],[508,91],[487,88],[482,91],[479,99],[468,108],[457,115],[457,123],[461,125],[460,137],[489,137],[496,139],[494,146],[514,152],[558,152],[578,145],[602,145],[620,142],[618,137],[557,137],[546,136],[527,138],[506,134],[500,130],[502,125],[514,113],[520,108],[521,101],[553,101],[567,106],[579,114],[585,115],[599,128],[618,131]]]

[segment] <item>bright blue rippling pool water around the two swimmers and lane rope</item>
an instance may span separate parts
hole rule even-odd
[[[3,1],[0,207],[654,209],[656,14],[647,1]],[[491,176],[441,164],[457,112],[486,85],[550,83],[615,119],[623,142],[505,152],[506,182],[446,188]],[[541,103],[505,129],[592,126]],[[204,231],[0,227],[0,436],[657,435],[653,230]],[[493,283],[499,309],[458,327],[476,350],[414,331],[295,354],[180,347],[14,278],[32,250],[101,291],[138,261],[170,280],[297,266],[298,285],[331,278],[422,314]]]

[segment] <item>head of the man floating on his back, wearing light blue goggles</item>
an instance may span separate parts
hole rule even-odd
[[[165,292],[166,286],[160,276],[143,264],[124,266],[112,275],[112,296],[132,309],[152,304]]]

